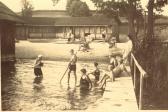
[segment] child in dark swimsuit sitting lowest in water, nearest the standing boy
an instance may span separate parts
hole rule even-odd
[[[80,79],[80,89],[81,90],[89,90],[92,88],[92,82],[88,75],[86,75],[86,69],[81,69],[81,79]]]

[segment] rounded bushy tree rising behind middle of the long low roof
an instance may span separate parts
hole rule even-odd
[[[67,12],[73,17],[91,15],[86,2],[82,2],[80,0],[69,0],[67,2]]]

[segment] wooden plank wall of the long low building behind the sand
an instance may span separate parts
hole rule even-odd
[[[82,37],[83,33],[90,33],[93,38],[102,39],[104,30],[110,36],[113,29],[112,26],[17,26],[17,38],[67,38],[66,34],[72,31],[76,38]]]

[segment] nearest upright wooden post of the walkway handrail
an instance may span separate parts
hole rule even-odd
[[[140,93],[139,93],[139,109],[142,110],[143,106],[143,74],[140,74]]]

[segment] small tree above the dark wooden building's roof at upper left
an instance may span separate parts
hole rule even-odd
[[[22,16],[31,17],[33,11],[33,5],[28,0],[21,0],[22,3]]]

